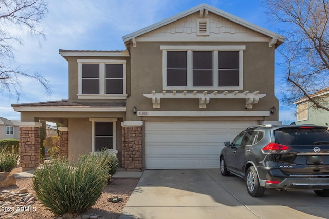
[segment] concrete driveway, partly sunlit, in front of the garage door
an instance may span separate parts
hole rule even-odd
[[[329,198],[274,189],[254,198],[218,169],[145,170],[119,218],[329,218]]]

